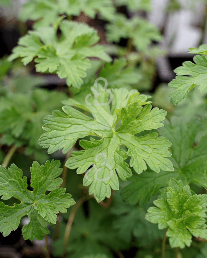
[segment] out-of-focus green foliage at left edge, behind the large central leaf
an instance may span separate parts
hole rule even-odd
[[[27,155],[35,153],[35,158],[45,162],[37,140],[43,133],[43,118],[52,110],[60,109],[60,101],[66,99],[64,93],[37,89],[30,93],[7,93],[0,99],[1,143],[18,147],[26,145]],[[39,155],[41,153],[41,155]],[[46,158],[46,160],[45,160]]]

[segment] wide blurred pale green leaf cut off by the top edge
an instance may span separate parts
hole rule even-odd
[[[38,28],[54,24],[62,14],[78,16],[84,12],[94,19],[99,13],[104,19],[112,19],[114,11],[110,0],[30,0],[23,5],[19,19],[36,20],[34,28]]]

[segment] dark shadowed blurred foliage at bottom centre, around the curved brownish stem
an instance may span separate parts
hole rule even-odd
[[[67,257],[79,258],[86,255],[98,255],[105,253],[109,258],[113,257],[110,249],[120,249],[126,244],[114,239],[114,229],[108,219],[108,209],[104,209],[94,200],[88,202],[89,216],[86,217],[84,210],[79,209],[74,218],[71,228],[70,239],[67,246]],[[60,238],[55,241],[55,257],[63,252],[63,236],[66,223],[60,225]]]

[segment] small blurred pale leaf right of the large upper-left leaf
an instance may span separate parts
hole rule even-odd
[[[124,15],[118,14],[111,24],[107,24],[108,40],[118,43],[121,38],[131,38],[132,44],[138,51],[144,51],[151,44],[152,40],[161,41],[162,36],[158,29],[140,17],[127,19]]]

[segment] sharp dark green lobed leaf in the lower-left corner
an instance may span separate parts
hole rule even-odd
[[[8,169],[0,167],[0,195],[1,199],[8,200],[12,196],[20,200],[20,204],[7,206],[0,202],[0,231],[3,236],[8,236],[16,230],[23,216],[28,216],[29,223],[22,228],[24,239],[43,239],[44,234],[49,234],[47,222],[55,224],[57,213],[67,212],[66,208],[74,205],[71,194],[65,193],[65,188],[59,188],[62,179],[60,161],[48,160],[45,165],[34,161],[30,167],[31,180],[28,190],[27,178],[22,178],[22,170],[14,164]],[[51,191],[47,195],[46,191]]]

